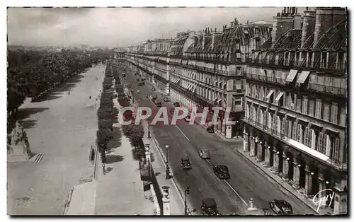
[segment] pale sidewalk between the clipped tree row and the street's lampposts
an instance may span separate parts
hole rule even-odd
[[[120,109],[117,99],[115,107]],[[154,204],[149,200],[150,191],[144,192],[140,179],[139,161],[132,156],[129,139],[113,124],[115,137],[112,151],[107,153],[103,175],[102,163],[98,166],[96,215],[154,215]],[[121,138],[120,138],[121,137]]]

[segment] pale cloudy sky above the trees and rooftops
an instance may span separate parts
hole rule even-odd
[[[282,8],[8,8],[8,45],[127,47],[234,18],[273,21]],[[299,8],[298,12],[304,11]]]

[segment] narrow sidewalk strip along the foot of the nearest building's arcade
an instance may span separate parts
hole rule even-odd
[[[301,200],[304,202],[304,204],[306,204],[307,206],[309,206],[311,209],[313,209],[314,211],[317,211],[317,206],[313,203],[312,198],[307,198],[304,194],[304,191],[302,189],[294,189],[292,187],[292,185],[290,185],[288,182],[285,182],[284,180],[282,180],[282,178],[279,175],[274,174],[272,171],[270,171],[270,168],[266,168],[265,165],[263,165],[262,163],[258,163],[256,160],[256,157],[251,157],[249,156],[248,153],[244,153],[243,151],[243,147],[236,147],[235,148],[237,152],[239,152],[242,156],[244,156],[244,158],[248,159],[249,161],[251,161],[251,163],[253,163],[254,165],[256,165],[256,167],[258,168],[258,170],[262,171],[263,173],[265,173],[265,176],[270,177],[270,179],[274,180],[275,182],[278,183],[278,185],[280,185],[282,188],[286,189],[288,192],[292,193],[295,197],[297,197],[297,199]],[[320,209],[318,212],[319,215],[329,215],[331,214],[331,210],[329,208],[327,209]]]

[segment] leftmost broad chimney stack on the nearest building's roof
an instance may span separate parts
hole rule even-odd
[[[286,8],[285,8],[286,11]],[[272,30],[272,47],[274,43],[284,35],[288,30],[292,29],[293,18],[284,14],[283,16],[273,17],[273,30]]]

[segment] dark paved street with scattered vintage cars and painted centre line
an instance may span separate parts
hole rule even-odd
[[[152,86],[146,82],[145,86],[137,86],[134,71],[127,74],[127,82],[130,82],[134,90],[135,103],[139,100],[139,106],[151,107],[153,114],[157,107],[145,95],[152,94]],[[137,89],[141,93],[137,93]],[[161,93],[153,92],[159,95]],[[162,102],[170,110],[171,102]],[[152,119],[152,118],[151,118]],[[215,134],[209,134],[205,128],[198,124],[190,125],[183,119],[176,125],[156,124],[150,127],[159,146],[166,154],[165,145],[169,145],[169,165],[172,168],[173,176],[181,189],[190,187],[188,201],[195,208],[197,214],[200,212],[202,198],[212,197],[217,202],[217,208],[222,215],[247,214],[249,200],[253,198],[254,206],[258,209],[268,209],[267,214],[273,214],[269,209],[269,201],[273,199],[284,199],[293,208],[294,214],[314,214],[306,204],[297,197],[280,190],[273,181],[268,180],[256,167],[234,151],[236,146],[242,146],[242,141],[224,141]],[[210,150],[211,159],[202,160],[198,151],[202,148]],[[193,166],[192,170],[182,170],[180,166],[181,157],[187,155]],[[212,170],[213,165],[227,165],[231,175],[230,180],[219,179]]]

